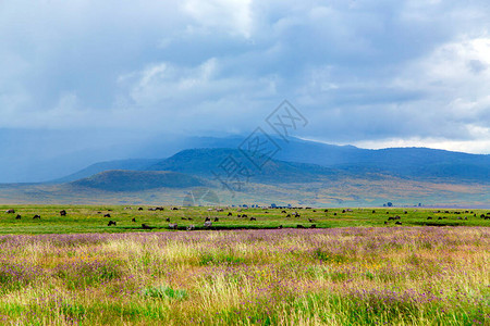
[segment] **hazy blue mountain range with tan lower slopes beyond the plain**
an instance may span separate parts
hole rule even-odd
[[[238,150],[241,138],[196,138],[191,142],[203,148],[167,159],[107,161],[46,184],[2,185],[0,202],[159,202],[195,187],[215,189],[229,201],[490,202],[490,155],[427,148],[366,150],[297,138],[274,141],[280,150],[260,167],[248,160],[256,153]],[[223,192],[220,179],[232,175],[242,185],[233,196]]]

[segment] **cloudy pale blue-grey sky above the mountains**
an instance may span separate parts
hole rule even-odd
[[[490,153],[489,65],[488,0],[0,0],[11,133],[247,134],[287,99],[306,139]]]

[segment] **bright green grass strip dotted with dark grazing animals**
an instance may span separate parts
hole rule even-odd
[[[2,234],[73,234],[73,233],[127,233],[169,230],[170,224],[179,229],[194,225],[204,229],[206,218],[211,229],[240,228],[309,228],[351,226],[490,226],[490,210],[442,209],[238,209],[177,208],[121,205],[0,205],[0,233]],[[8,214],[13,209],[15,213]],[[60,211],[65,210],[66,216]],[[297,212],[297,216],[295,213]],[[231,216],[229,214],[231,213]],[[110,217],[105,217],[109,214]],[[21,218],[15,218],[21,215]],[[40,218],[33,218],[39,215]],[[245,217],[244,217],[245,216]],[[400,220],[392,220],[400,216]],[[483,216],[483,217],[482,217]],[[487,217],[487,220],[485,218]],[[218,221],[216,221],[218,218]],[[134,220],[134,222],[133,222]],[[108,226],[109,221],[117,224]]]

